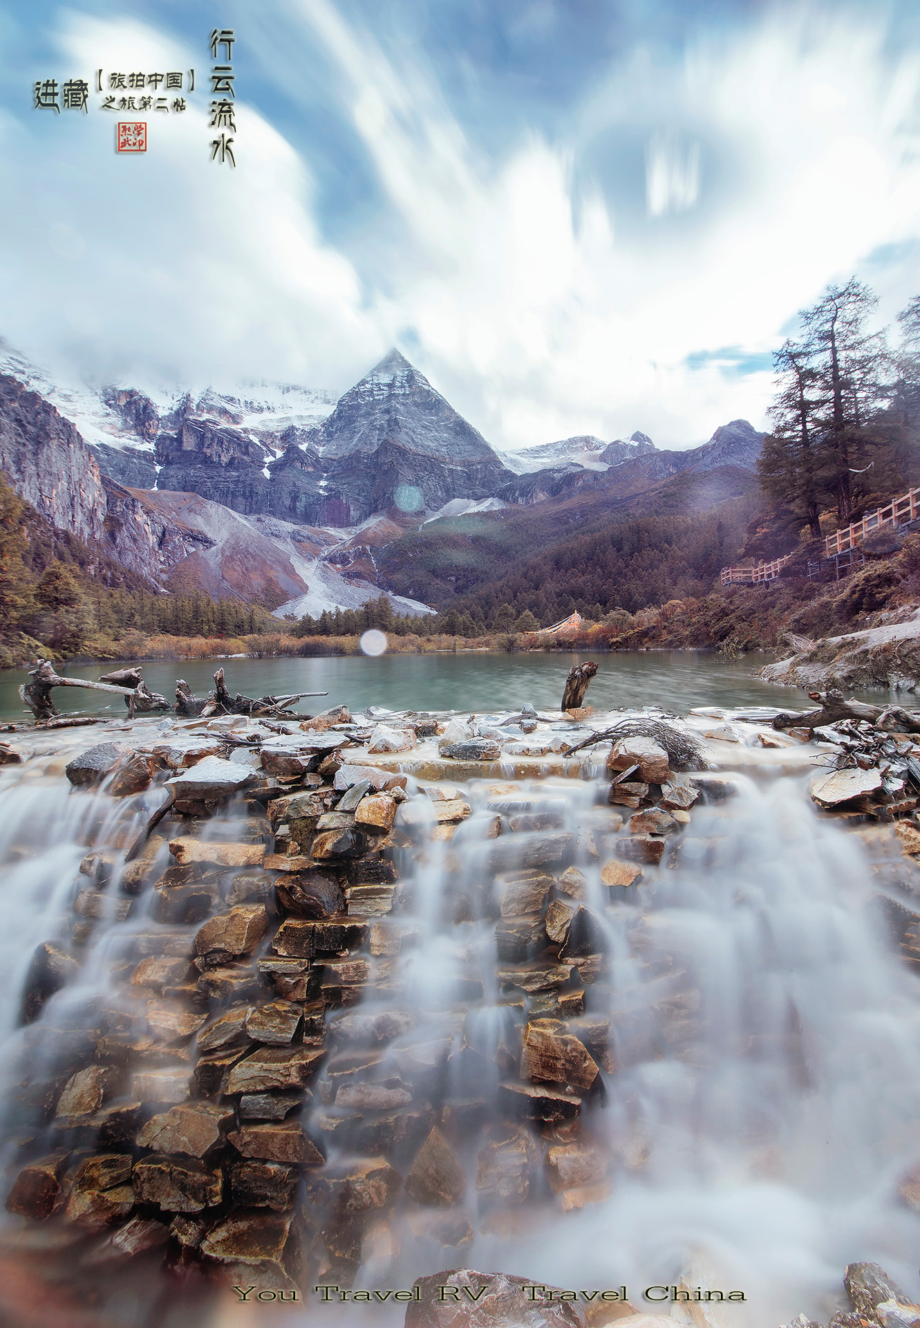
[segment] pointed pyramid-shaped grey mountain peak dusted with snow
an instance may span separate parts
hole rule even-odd
[[[312,434],[352,522],[398,506],[487,498],[514,478],[486,440],[393,349]]]

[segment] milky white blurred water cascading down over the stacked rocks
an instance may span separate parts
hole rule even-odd
[[[147,728],[154,733],[157,721]],[[68,741],[88,740],[58,738]],[[141,1036],[131,971],[161,944],[181,954],[170,944],[199,924],[154,920],[150,883],[134,896],[118,888],[123,850],[162,790],[121,799],[70,791],[62,761],[48,750],[0,770],[0,1086],[3,1162],[13,1170],[21,1155],[85,1143],[53,1120],[41,1123],[36,1094],[90,1064],[100,1037]],[[628,888],[608,887],[600,867],[617,851],[623,809],[607,805],[608,785],[595,773],[466,785],[473,814],[453,838],[435,830],[434,803],[410,781],[408,806],[422,815],[413,842],[396,851],[397,907],[372,919],[362,999],[327,1015],[332,1054],[305,1122],[325,1139],[331,1166],[378,1151],[356,1145],[366,1121],[341,1089],[360,1086],[366,1101],[418,1117],[421,1134],[386,1147],[401,1175],[437,1122],[462,1179],[447,1185],[442,1207],[401,1195],[389,1230],[362,1234],[353,1286],[503,1270],[563,1288],[625,1284],[640,1312],[661,1315],[673,1304],[645,1289],[684,1278],[693,1288],[743,1292],[743,1304],[714,1307],[713,1324],[777,1328],[801,1311],[826,1323],[840,1304],[844,1266],[875,1260],[920,1297],[919,1219],[897,1198],[897,1179],[920,1161],[920,1001],[874,903],[862,842],[818,817],[806,774],[751,761],[731,777],[730,797],[708,794],[694,806],[660,867]],[[195,833],[258,837],[243,810],[231,805]],[[112,861],[74,931],[74,895],[92,886],[80,875],[88,847]],[[560,884],[568,866],[580,875]],[[523,898],[514,895],[522,882],[539,896],[540,876],[536,904],[532,891],[526,907],[511,902]],[[220,882],[224,904],[246,898],[235,879]],[[527,939],[552,900],[591,915],[564,979]],[[21,993],[46,942],[76,952],[80,967],[23,1025]],[[378,1015],[384,1024],[373,1027],[386,1031],[370,1037]],[[564,1101],[544,1122],[511,1105],[523,1028],[534,1020],[566,1020],[599,1066],[570,1093],[581,1097],[575,1126]],[[394,1096],[374,1098],[381,1089]],[[560,1182],[567,1165],[575,1170]],[[305,1313],[346,1328],[402,1323],[401,1305],[321,1305],[315,1295],[297,1308],[199,1303],[196,1284],[162,1283],[149,1263],[142,1274],[93,1271],[62,1236],[48,1236],[46,1258],[64,1270],[62,1284],[78,1288],[77,1301],[93,1288],[89,1317],[53,1320],[68,1328],[287,1328]],[[16,1258],[3,1266],[13,1278]],[[320,1263],[311,1287],[345,1286],[337,1267]],[[32,1323],[25,1311],[20,1321]]]

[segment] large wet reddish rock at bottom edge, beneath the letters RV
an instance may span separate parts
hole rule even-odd
[[[405,1328],[587,1328],[588,1323],[577,1301],[530,1300],[523,1288],[534,1283],[503,1272],[454,1268],[417,1278],[414,1286],[420,1299],[406,1305]],[[457,1300],[441,1287],[457,1288]],[[475,1301],[463,1287],[478,1292]]]

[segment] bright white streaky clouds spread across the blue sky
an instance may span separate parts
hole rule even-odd
[[[308,167],[243,88],[235,173],[207,161],[200,112],[133,163],[98,113],[57,137],[8,121],[7,336],[98,373],[344,388],[402,335],[498,446],[636,428],[684,445],[763,421],[770,373],[737,363],[762,363],[826,282],[866,267],[885,316],[920,290],[920,60],[887,54],[882,19],[782,8],[680,53],[637,48],[552,141],[531,131],[498,159],[418,48],[384,48],[332,0],[291,0],[279,24],[273,40],[325,53],[329,113],[385,199],[386,226],[349,234],[361,263],[324,238]],[[163,39],[72,16],[62,41],[94,68]],[[645,173],[605,178],[636,143]]]

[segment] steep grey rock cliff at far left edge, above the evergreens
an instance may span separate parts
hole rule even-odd
[[[105,490],[92,452],[69,420],[0,374],[0,469],[36,511],[86,542],[105,525]]]

